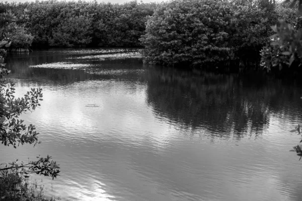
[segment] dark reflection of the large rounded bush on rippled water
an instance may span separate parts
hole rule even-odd
[[[159,117],[206,129],[213,137],[257,137],[272,113],[296,118],[301,109],[299,89],[278,80],[159,67],[144,76],[147,102]]]

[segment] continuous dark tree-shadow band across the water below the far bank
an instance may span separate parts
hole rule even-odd
[[[82,50],[77,51],[74,55]],[[85,51],[86,55],[96,54],[96,51]],[[7,67],[12,70],[13,78],[26,80],[24,84],[31,81],[38,85],[64,85],[109,79],[146,84],[147,104],[160,121],[164,118],[189,128],[191,134],[207,130],[218,138],[257,138],[267,130],[271,115],[284,120],[299,119],[302,109],[299,85],[267,79],[263,74],[184,71],[142,65],[138,59],[79,61],[70,55],[68,51],[14,54],[8,58]],[[86,70],[28,67],[60,62],[92,67]]]

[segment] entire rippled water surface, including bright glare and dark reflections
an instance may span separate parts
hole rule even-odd
[[[300,86],[143,65],[135,49],[10,56],[17,93],[43,88],[22,116],[42,144],[0,146],[9,162],[51,155],[43,179],[62,200],[301,200]]]

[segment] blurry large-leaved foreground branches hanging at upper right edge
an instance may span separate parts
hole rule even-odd
[[[282,20],[272,23],[275,24],[271,26],[274,35],[270,36],[271,41],[260,52],[260,65],[267,71],[288,67],[297,70],[302,62],[302,17],[286,5],[278,5],[275,12]]]

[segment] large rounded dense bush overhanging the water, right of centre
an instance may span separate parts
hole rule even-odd
[[[176,0],[160,5],[141,38],[144,60],[164,65],[259,63],[270,26],[290,9],[253,1]],[[280,12],[281,11],[281,12]],[[286,16],[287,17],[287,16]]]

